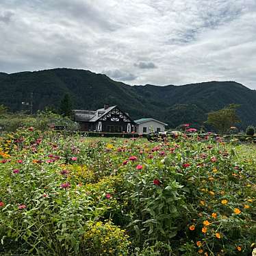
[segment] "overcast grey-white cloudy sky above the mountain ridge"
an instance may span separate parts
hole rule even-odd
[[[0,72],[58,67],[256,89],[256,0],[1,0]]]

